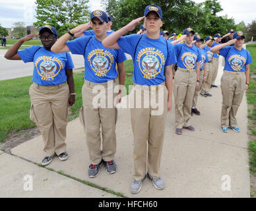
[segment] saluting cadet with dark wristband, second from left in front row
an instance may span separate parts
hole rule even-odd
[[[120,49],[108,49],[102,45],[102,40],[107,37],[106,32],[110,24],[108,15],[104,11],[92,11],[90,20],[94,36],[82,36],[67,42],[71,36],[86,26],[86,24],[81,24],[64,34],[51,49],[55,52],[71,51],[71,53],[84,56],[85,71],[80,120],[84,126],[91,162],[88,167],[88,175],[96,177],[100,172],[102,162],[106,166],[107,173],[116,171],[113,160],[116,151],[117,109],[115,105],[121,102],[121,93],[125,84],[123,61],[126,60],[126,57]],[[117,63],[119,75],[115,69],[115,63]],[[115,88],[117,76],[119,76],[121,85],[119,92]],[[98,100],[100,100],[100,104],[98,104]],[[100,148],[100,126],[102,150]]]

